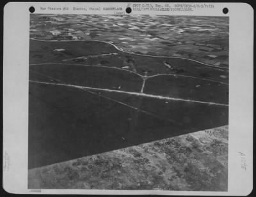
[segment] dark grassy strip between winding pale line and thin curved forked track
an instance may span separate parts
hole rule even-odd
[[[60,48],[65,49],[65,51],[54,51],[55,49]],[[141,75],[144,75],[145,71],[147,71],[147,75],[170,73],[217,80],[228,84],[228,69],[213,68],[186,59],[145,57],[126,54],[116,50],[108,43],[100,43],[97,41],[45,42],[30,40],[29,52],[30,64],[63,62],[90,65],[100,64],[103,66],[115,66],[118,68],[130,66],[131,69],[135,68]],[[106,55],[111,53],[115,53],[115,55]],[[86,57],[86,59],[74,59],[75,57],[83,56]],[[62,61],[63,59],[71,60]],[[164,62],[168,62],[168,64],[172,65],[173,70],[164,66]]]

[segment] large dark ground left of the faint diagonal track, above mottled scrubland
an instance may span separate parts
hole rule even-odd
[[[171,127],[179,131],[175,124]],[[170,122],[86,91],[30,84],[29,168],[164,138],[168,133]]]

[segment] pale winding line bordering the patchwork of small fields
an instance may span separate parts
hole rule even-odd
[[[156,57],[156,58],[174,58],[174,59],[186,59],[186,60],[189,60],[189,61],[193,61],[193,62],[197,62],[199,64],[204,64],[205,66],[210,66],[212,68],[219,68],[219,69],[228,69],[228,68],[225,68],[225,67],[221,67],[221,66],[214,66],[214,65],[211,65],[211,64],[205,64],[204,62],[200,62],[200,61],[196,61],[194,59],[188,59],[186,57],[175,57],[175,56],[156,56],[156,55],[143,55],[143,54],[134,54],[132,52],[126,52],[124,50],[121,50],[120,48],[118,48],[116,45],[114,45],[113,43],[109,43],[108,41],[102,41],[102,40],[38,40],[38,39],[35,39],[35,38],[30,38],[31,40],[35,40],[35,41],[47,41],[47,42],[52,42],[52,41],[99,41],[101,43],[107,43],[109,45],[112,45],[113,47],[116,48],[116,50],[119,50],[120,52],[124,52],[125,54],[131,54],[131,55],[138,55],[138,56],[143,56],[143,57]]]

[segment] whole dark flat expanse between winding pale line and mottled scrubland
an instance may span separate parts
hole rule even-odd
[[[29,169],[228,124],[228,69],[99,41],[30,45]]]

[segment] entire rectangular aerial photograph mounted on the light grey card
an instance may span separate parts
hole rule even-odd
[[[227,191],[228,31],[31,14],[28,188]]]

